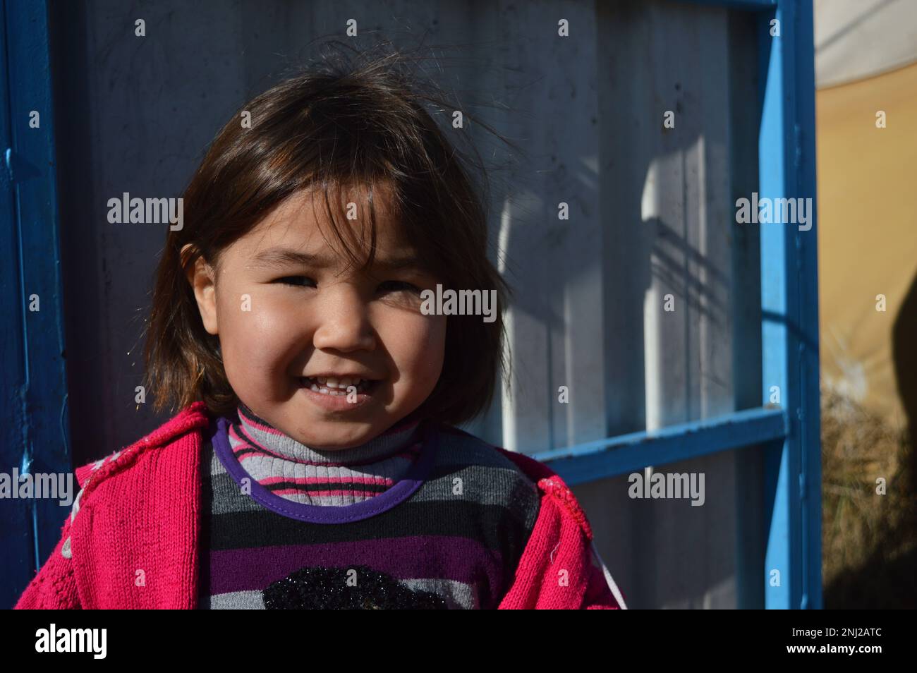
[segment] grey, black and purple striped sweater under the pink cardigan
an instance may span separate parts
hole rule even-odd
[[[199,607],[496,608],[539,512],[536,484],[494,447],[420,424],[400,480],[343,506],[251,478],[230,428],[205,434]],[[245,453],[242,453],[242,462]],[[263,479],[262,479],[263,481]]]

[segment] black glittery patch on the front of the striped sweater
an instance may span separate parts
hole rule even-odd
[[[348,572],[356,570],[356,586]],[[261,592],[268,610],[447,610],[442,596],[414,591],[366,566],[300,568]]]

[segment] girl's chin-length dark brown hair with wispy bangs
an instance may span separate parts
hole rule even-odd
[[[496,291],[492,323],[480,315],[447,316],[442,374],[411,416],[458,425],[491,403],[498,372],[507,371],[503,310],[510,288],[487,257],[485,172],[477,151],[471,171],[468,156],[447,138],[466,133],[451,127],[457,106],[443,103],[438,89],[422,91],[418,82],[425,80],[411,62],[397,51],[347,58],[338,50],[251,100],[216,136],[182,194],[183,226],[170,230],[156,272],[144,348],[145,384],[156,411],[203,400],[212,413],[228,414],[238,404],[219,339],[204,329],[185,270],[200,257],[215,268],[225,248],[304,189],[324,194],[338,248],[359,264],[350,249],[353,234],[338,224],[337,207],[330,205],[340,204],[342,191],[355,185],[370,194],[364,268],[375,252],[372,194],[388,186],[403,235],[444,287]],[[427,105],[447,116],[447,131]],[[241,123],[244,112],[250,127]],[[481,182],[472,183],[470,175]]]

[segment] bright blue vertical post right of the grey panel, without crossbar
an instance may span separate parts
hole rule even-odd
[[[815,194],[815,64],[812,2],[780,0],[762,13],[762,112],[758,136],[761,197],[811,199],[803,230],[761,225],[764,390],[779,392],[790,435],[768,447],[765,485],[770,527],[768,608],[821,608],[822,456],[818,362],[818,256]],[[771,19],[780,37],[769,38]],[[767,263],[765,263],[767,262]],[[779,573],[779,584],[775,584]]]

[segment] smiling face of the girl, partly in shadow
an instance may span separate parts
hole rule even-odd
[[[226,248],[216,270],[203,259],[188,270],[238,398],[309,447],[378,436],[425,401],[443,367],[447,318],[420,311],[420,292],[437,280],[398,236],[389,203],[376,200],[377,254],[365,272],[326,243],[315,219],[324,199],[314,212],[308,192]],[[355,234],[359,223],[348,220]]]

